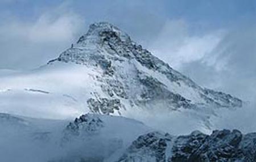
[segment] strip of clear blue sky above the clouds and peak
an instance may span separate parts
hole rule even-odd
[[[15,18],[24,22],[36,21],[44,12],[66,6],[82,16],[89,24],[106,20],[122,28],[136,28],[139,24],[154,22],[151,28],[157,30],[166,19],[184,19],[192,32],[232,27],[251,23],[255,19],[256,1],[32,1],[1,0],[2,19]],[[5,23],[3,21],[2,23]],[[139,23],[139,24],[138,24]],[[158,24],[158,25],[157,25]],[[133,31],[134,30],[134,31]],[[136,32],[133,29],[132,32]],[[138,29],[137,29],[138,30]],[[143,35],[143,33],[142,33]]]

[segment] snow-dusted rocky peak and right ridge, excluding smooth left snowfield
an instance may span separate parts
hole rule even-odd
[[[171,110],[242,106],[236,97],[198,86],[109,23],[90,25],[77,44],[49,64],[56,61],[74,62],[101,71],[95,78],[105,95],[92,95],[87,101],[94,113],[122,114],[123,109],[152,108],[152,105]],[[106,108],[112,101],[114,106]]]

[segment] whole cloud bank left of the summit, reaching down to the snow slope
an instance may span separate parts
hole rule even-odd
[[[5,20],[0,25],[0,65],[11,69],[30,69],[56,57],[76,41],[84,21],[61,4],[31,22]]]

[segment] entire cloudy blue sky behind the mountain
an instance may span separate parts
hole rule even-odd
[[[200,86],[256,98],[256,1],[0,0],[0,69],[44,65],[110,22]]]

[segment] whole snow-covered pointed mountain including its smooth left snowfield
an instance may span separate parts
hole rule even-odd
[[[76,44],[47,65],[0,73],[0,112],[20,116],[71,119],[85,113],[113,114],[162,130],[172,123],[168,131],[179,134],[210,131],[217,109],[243,104],[200,87],[109,23],[90,25]],[[176,122],[186,120],[190,122],[183,123],[188,125],[184,129],[175,128]]]

